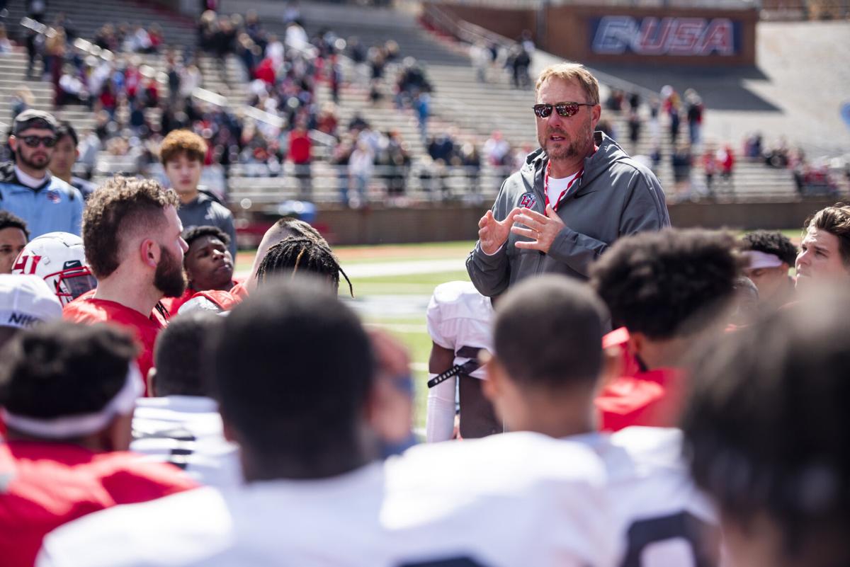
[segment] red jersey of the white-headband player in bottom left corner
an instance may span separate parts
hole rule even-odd
[[[4,567],[32,567],[43,537],[72,519],[196,486],[179,469],[130,452],[40,441],[0,444],[0,479]]]

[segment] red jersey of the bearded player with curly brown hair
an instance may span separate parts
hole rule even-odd
[[[116,301],[94,299],[92,295],[94,293],[83,294],[71,301],[62,311],[62,318],[74,323],[115,323],[132,329],[142,348],[136,362],[139,363],[139,372],[142,373],[144,392],[147,396],[148,371],[154,365],[154,343],[156,335],[168,324],[167,314],[154,309],[150,317],[144,317],[135,309]]]

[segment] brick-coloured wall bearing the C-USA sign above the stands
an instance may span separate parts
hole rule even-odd
[[[558,5],[500,9],[432,3],[456,20],[501,36],[532,32],[536,45],[565,59],[636,64],[740,66],[756,63],[752,9]],[[541,15],[541,17],[538,17]]]

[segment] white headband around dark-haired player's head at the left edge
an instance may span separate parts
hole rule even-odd
[[[0,417],[8,427],[26,435],[45,439],[80,437],[105,428],[116,415],[132,413],[133,408],[136,407],[136,399],[143,393],[142,374],[139,373],[136,362],[132,361],[122,389],[118,390],[118,393],[99,412],[42,419],[16,415],[10,413],[5,407],[0,407]]]

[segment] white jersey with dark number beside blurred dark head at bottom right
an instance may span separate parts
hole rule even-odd
[[[605,463],[619,534],[615,566],[716,564],[716,556],[701,553],[712,540],[717,514],[690,480],[679,429],[628,427],[567,440],[586,444]]]

